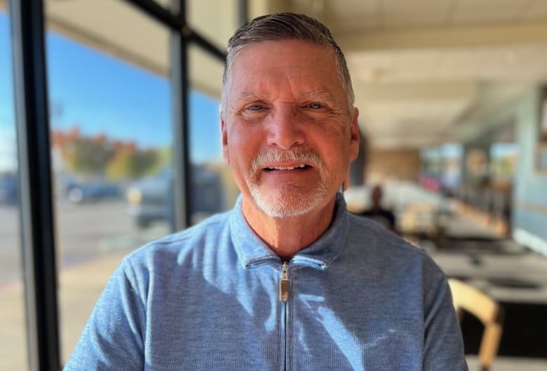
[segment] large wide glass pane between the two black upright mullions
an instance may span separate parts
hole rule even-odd
[[[170,232],[173,204],[168,29],[84,3],[50,2],[46,40],[62,361],[123,255]]]

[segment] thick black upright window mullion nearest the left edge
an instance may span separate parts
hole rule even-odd
[[[9,8],[29,369],[59,370],[43,1],[11,1]]]

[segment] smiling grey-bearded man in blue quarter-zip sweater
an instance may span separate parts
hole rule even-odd
[[[67,370],[466,370],[443,272],[346,211],[358,148],[342,52],[304,15],[229,41],[228,213],[123,260]]]

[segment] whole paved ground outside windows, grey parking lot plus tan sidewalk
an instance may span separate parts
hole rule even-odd
[[[123,255],[166,235],[158,222],[141,230],[125,202],[55,205],[62,358],[72,351],[104,283]],[[25,370],[25,307],[18,209],[0,207],[0,370]]]

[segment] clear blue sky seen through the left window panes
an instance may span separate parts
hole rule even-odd
[[[15,118],[8,16],[0,13],[0,172],[13,167]],[[142,148],[171,143],[168,80],[59,34],[46,36],[50,125],[83,134],[134,140]],[[217,99],[190,94],[191,154],[196,162],[220,160]]]

